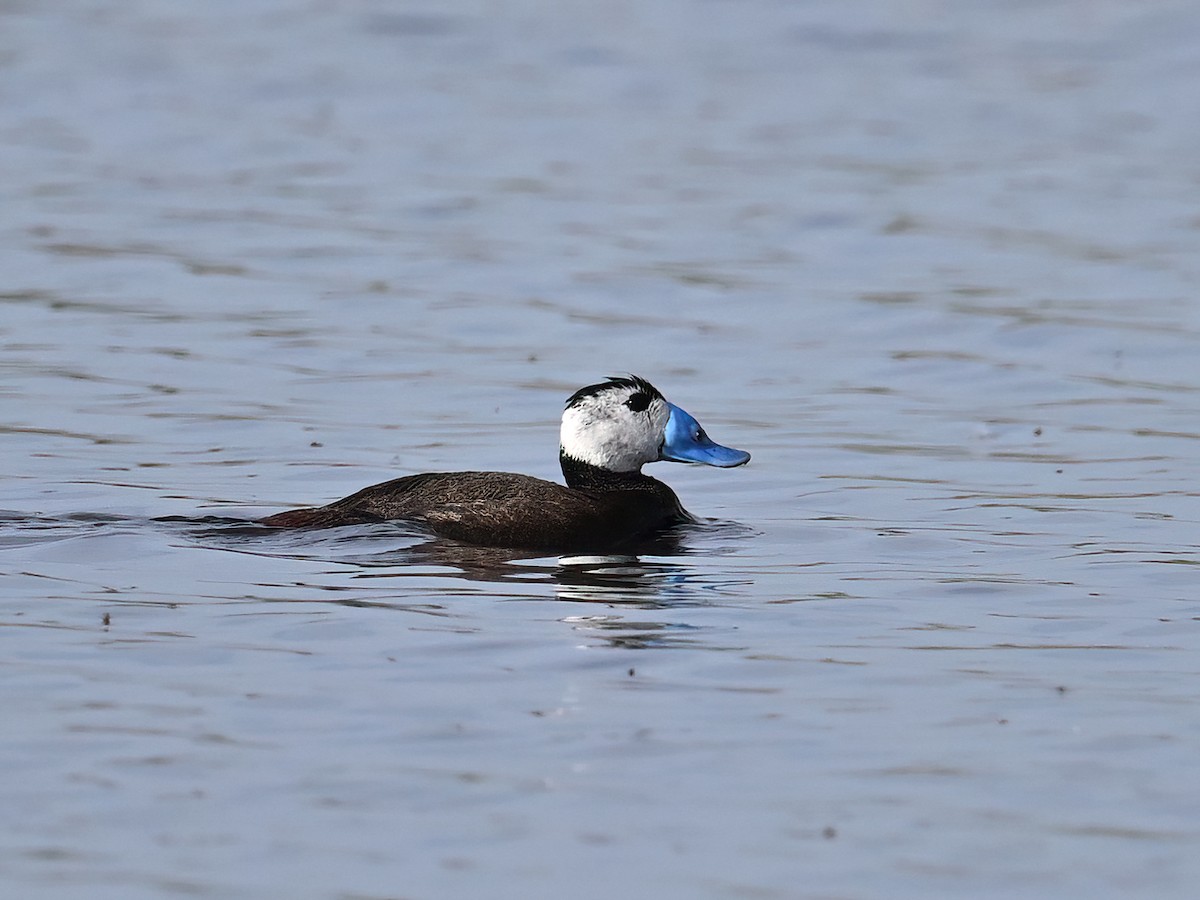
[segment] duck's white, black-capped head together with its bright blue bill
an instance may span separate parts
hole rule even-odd
[[[659,460],[721,468],[750,461],[744,450],[710,440],[686,410],[637,376],[575,391],[563,412],[559,445],[564,456],[608,472],[637,472]]]

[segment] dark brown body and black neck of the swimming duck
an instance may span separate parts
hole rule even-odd
[[[563,473],[568,487],[506,472],[409,475],[262,523],[328,528],[401,520],[490,547],[602,552],[692,521],[670,487],[640,472],[606,472],[564,457]]]

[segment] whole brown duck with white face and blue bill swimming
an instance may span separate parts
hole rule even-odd
[[[271,528],[406,522],[463,544],[614,552],[697,520],[652,462],[718,468],[750,454],[712,440],[700,422],[640,376],[611,376],[566,400],[559,428],[565,486],[510,472],[427,472],[384,481],[324,506],[259,520]]]

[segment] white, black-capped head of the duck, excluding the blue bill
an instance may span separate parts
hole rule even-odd
[[[563,413],[563,452],[610,472],[637,472],[654,462],[671,410],[656,391],[649,403],[646,397],[637,385],[614,384],[575,401]]]

